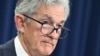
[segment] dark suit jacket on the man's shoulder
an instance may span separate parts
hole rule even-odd
[[[0,45],[0,56],[17,56],[14,47],[14,40]]]

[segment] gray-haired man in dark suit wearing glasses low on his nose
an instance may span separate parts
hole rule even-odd
[[[0,56],[48,56],[67,35],[68,0],[18,0],[18,35],[0,46]],[[63,37],[62,37],[63,36]]]

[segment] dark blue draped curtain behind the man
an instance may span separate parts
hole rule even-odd
[[[0,0],[0,44],[17,35],[16,2]],[[71,31],[51,56],[100,56],[100,0],[70,0],[70,9],[65,26]]]

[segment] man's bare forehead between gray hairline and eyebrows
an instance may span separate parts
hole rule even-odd
[[[44,17],[45,15],[49,16],[53,21],[61,21],[64,20],[64,7],[60,5],[51,5],[51,6],[43,6],[41,5],[37,9],[37,16]]]

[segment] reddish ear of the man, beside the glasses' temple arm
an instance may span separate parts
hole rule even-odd
[[[16,25],[17,30],[21,33],[24,33],[24,31],[25,31],[24,30],[24,28],[25,28],[24,19],[25,19],[25,17],[21,14],[15,15],[15,25]]]

